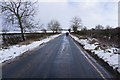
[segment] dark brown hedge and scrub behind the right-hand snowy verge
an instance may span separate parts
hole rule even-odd
[[[101,43],[113,47],[120,47],[120,28],[104,30],[82,30],[76,34],[98,39]]]

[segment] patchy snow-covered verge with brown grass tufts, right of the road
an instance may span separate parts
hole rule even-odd
[[[106,45],[101,45],[95,38],[79,39],[76,36],[70,35],[74,40],[83,45],[85,50],[89,50],[104,60],[113,69],[120,73],[120,49]]]

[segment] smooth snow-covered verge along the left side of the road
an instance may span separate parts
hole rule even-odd
[[[0,50],[0,59],[1,59],[0,63],[3,63],[10,59],[13,59],[17,56],[20,56],[24,52],[30,51],[30,50],[38,47],[42,43],[47,43],[50,40],[53,40],[60,35],[61,34],[52,35],[52,36],[47,37],[46,39],[43,39],[40,41],[34,41],[28,45],[13,45],[13,46],[10,46],[9,49],[2,49],[2,50]]]

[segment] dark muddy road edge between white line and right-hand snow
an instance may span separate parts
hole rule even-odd
[[[70,37],[71,37],[71,36],[70,36]],[[94,54],[92,54],[90,51],[85,50],[85,49],[83,48],[83,46],[82,46],[79,42],[77,42],[75,39],[73,39],[72,37],[71,37],[71,39],[74,41],[75,45],[76,45],[78,48],[82,49],[82,51],[85,53],[85,55],[90,59],[90,61],[91,61],[93,64],[95,64],[95,66],[96,66],[97,64],[99,64],[103,69],[107,70],[110,74],[112,74],[112,75],[115,76],[115,78],[111,78],[111,79],[116,79],[116,80],[120,79],[120,78],[119,78],[119,76],[120,76],[119,73],[116,72],[115,70],[113,70],[112,67],[110,67],[106,62],[104,62],[102,59],[100,59],[97,55],[94,55]],[[86,53],[87,53],[87,54],[86,54]],[[94,60],[92,60],[90,57],[92,57],[93,59],[95,59],[95,61],[97,61],[97,62],[95,62]],[[98,66],[97,66],[97,67],[98,67]],[[110,80],[110,78],[109,78],[109,80]]]

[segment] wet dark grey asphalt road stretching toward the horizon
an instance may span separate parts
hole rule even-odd
[[[104,78],[70,36],[61,35],[3,67],[3,78]]]

